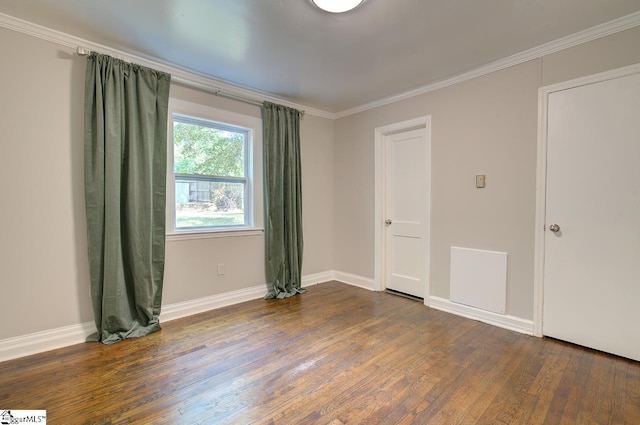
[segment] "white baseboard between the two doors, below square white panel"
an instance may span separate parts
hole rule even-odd
[[[446,298],[434,296],[429,297],[429,307],[466,317],[467,319],[478,320],[489,325],[509,329],[511,331],[533,335],[533,320],[493,313],[491,311],[481,310],[468,305],[457,304]]]

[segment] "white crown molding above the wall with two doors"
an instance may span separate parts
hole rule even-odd
[[[543,56],[550,55],[552,53],[559,52],[561,50],[568,49],[570,47],[577,46],[579,44],[587,43],[598,38],[606,37],[611,34],[615,34],[627,29],[640,26],[640,12],[632,13],[627,16],[623,16],[618,19],[614,19],[604,24],[596,25],[584,31],[577,32],[567,37],[560,38],[558,40],[551,41],[549,43],[542,44],[537,47],[525,50],[520,53],[516,53],[506,58],[499,59],[497,61],[488,63],[486,65],[474,68],[467,72],[454,75],[452,77],[436,81],[413,90],[409,90],[403,93],[398,93],[389,97],[374,100],[353,108],[345,109],[340,112],[336,112],[335,119],[348,117],[360,112],[368,111],[370,109],[379,108],[381,106],[389,105],[391,103],[399,102],[401,100],[410,99],[421,94],[429,93],[435,90],[439,90],[445,87],[452,86],[454,84],[462,83],[467,80],[471,80],[476,77],[490,74],[501,69],[505,69],[514,65],[539,59]]]

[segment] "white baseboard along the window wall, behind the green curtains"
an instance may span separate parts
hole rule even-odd
[[[303,276],[302,286],[313,286],[330,280],[333,280],[333,271],[315,273]],[[210,297],[164,305],[160,313],[160,322],[169,322],[228,305],[260,299],[266,295],[267,291],[267,285],[256,285]],[[0,340],[0,362],[80,344],[95,332],[95,324],[86,322],[2,339]]]

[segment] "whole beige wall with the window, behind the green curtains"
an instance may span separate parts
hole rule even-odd
[[[0,341],[93,321],[83,185],[85,59],[0,28]],[[260,116],[172,85],[171,96]],[[334,123],[301,122],[304,274],[333,267]],[[167,243],[163,304],[265,284],[264,237]],[[225,275],[215,265],[225,263]],[[266,285],[265,285],[266,293]]]

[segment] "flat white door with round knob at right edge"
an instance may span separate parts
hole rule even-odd
[[[548,99],[543,333],[640,360],[640,74]]]

